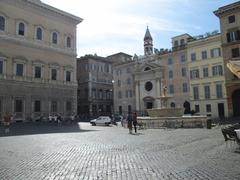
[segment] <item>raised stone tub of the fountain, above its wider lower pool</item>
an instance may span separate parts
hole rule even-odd
[[[181,117],[184,113],[184,108],[153,108],[147,109],[150,117]]]

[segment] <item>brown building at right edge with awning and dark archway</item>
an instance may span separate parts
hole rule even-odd
[[[218,10],[229,116],[240,116],[240,1]],[[236,66],[235,68],[232,68]],[[229,68],[228,68],[229,67]],[[238,77],[237,77],[238,76]]]

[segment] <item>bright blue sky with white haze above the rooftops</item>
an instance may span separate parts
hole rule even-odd
[[[171,48],[171,38],[219,30],[213,14],[236,0],[41,0],[84,19],[77,29],[77,54],[143,54],[148,26],[154,48]]]

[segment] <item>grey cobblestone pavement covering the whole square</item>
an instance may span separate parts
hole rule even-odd
[[[239,180],[238,148],[220,127],[130,135],[120,126],[21,124],[0,133],[0,179]]]

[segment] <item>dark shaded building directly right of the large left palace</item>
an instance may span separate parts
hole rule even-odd
[[[82,119],[113,113],[112,63],[97,55],[77,59],[78,114]]]

